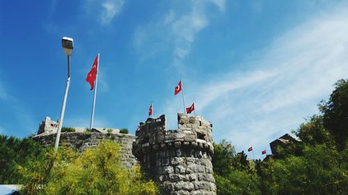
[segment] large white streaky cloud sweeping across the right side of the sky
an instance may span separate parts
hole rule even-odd
[[[317,103],[328,99],[333,83],[347,78],[347,13],[322,15],[281,35],[252,56],[255,61],[244,62],[258,70],[226,70],[205,83],[189,78],[185,96],[194,96],[197,114],[212,121],[214,139],[232,140],[239,150],[253,146],[258,153],[318,112]],[[182,112],[181,99],[168,99],[161,111],[175,128],[171,113]]]

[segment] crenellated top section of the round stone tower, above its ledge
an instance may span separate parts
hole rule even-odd
[[[136,130],[134,153],[149,153],[166,148],[192,148],[214,153],[212,124],[202,117],[177,114],[177,130],[166,130],[166,117],[148,118]]]

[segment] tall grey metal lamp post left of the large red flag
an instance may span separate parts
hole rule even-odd
[[[65,87],[65,95],[64,95],[64,100],[63,100],[63,105],[62,105],[62,111],[61,111],[61,117],[59,118],[58,121],[58,130],[57,130],[57,137],[56,137],[56,144],[54,145],[54,149],[58,149],[58,144],[59,144],[59,139],[61,138],[61,129],[62,129],[62,124],[63,124],[63,119],[64,119],[64,112],[65,112],[65,104],[66,104],[66,99],[68,96],[68,91],[69,91],[69,86],[70,86],[70,56],[72,55],[72,43],[74,40],[70,37],[63,37],[62,38],[62,46],[63,50],[66,56],[68,56],[68,80],[66,82],[66,87]]]

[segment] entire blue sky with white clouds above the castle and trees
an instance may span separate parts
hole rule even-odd
[[[0,133],[25,137],[58,119],[65,90],[61,37],[74,38],[63,126],[89,126],[85,78],[100,51],[95,126],[129,128],[187,107],[237,151],[269,142],[318,112],[347,78],[345,1],[0,1]]]

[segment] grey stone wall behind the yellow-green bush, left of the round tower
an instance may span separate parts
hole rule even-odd
[[[120,151],[123,166],[127,169],[131,169],[138,162],[135,156],[132,154],[132,143],[135,141],[134,135],[129,134],[111,134],[111,133],[61,133],[60,143],[66,146],[71,146],[74,149],[81,151],[86,150],[88,147],[95,147],[98,142],[103,139],[111,139],[122,146]],[[54,146],[56,142],[56,133],[49,135],[36,135],[33,140],[39,142],[44,146]]]

